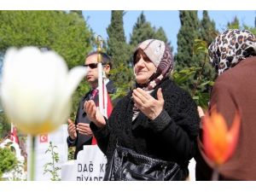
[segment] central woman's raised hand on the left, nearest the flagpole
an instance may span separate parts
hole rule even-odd
[[[98,108],[96,108],[95,102],[92,100],[84,102],[84,112],[86,113],[88,119],[95,123],[99,128],[106,125],[106,121]]]

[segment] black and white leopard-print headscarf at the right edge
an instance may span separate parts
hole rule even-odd
[[[218,75],[249,56],[256,55],[256,38],[247,30],[229,29],[210,44],[209,58]]]

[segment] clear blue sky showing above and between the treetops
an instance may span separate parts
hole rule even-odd
[[[128,42],[130,39],[130,34],[132,32],[132,27],[137,21],[138,15],[141,14],[142,11],[125,11],[124,15],[124,28],[125,28],[125,37]],[[86,10],[83,11],[83,15],[85,20],[87,20],[89,26],[92,28],[96,34],[101,35],[102,38],[107,40],[108,33],[106,28],[108,27],[111,19],[111,11],[102,10],[102,11],[92,11]],[[177,50],[177,32],[180,27],[180,21],[178,17],[178,11],[176,10],[158,10],[144,11],[144,15],[146,15],[146,20],[148,20],[152,26],[156,26],[159,28],[162,26],[166,32],[166,36],[168,40],[171,40],[174,51]],[[215,21],[216,27],[218,30],[224,31],[227,23],[232,21],[235,16],[238,17],[241,24],[246,24],[247,26],[254,26],[254,20],[256,16],[256,11],[253,10],[242,10],[242,11],[208,11],[208,15],[211,20]],[[198,17],[201,19],[202,11],[198,12]]]

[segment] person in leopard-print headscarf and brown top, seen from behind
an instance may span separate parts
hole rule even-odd
[[[219,166],[219,180],[256,180],[256,38],[247,30],[229,29],[209,46],[209,57],[218,78],[212,87],[209,112],[216,108],[231,126],[236,110],[241,127],[234,154]],[[201,110],[201,117],[204,116]],[[201,146],[201,147],[200,147]],[[211,180],[211,163],[200,152],[196,160],[196,180]]]

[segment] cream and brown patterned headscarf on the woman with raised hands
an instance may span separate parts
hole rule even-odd
[[[149,78],[148,84],[137,84],[137,86],[143,90],[154,90],[154,87],[166,79],[173,70],[174,62],[171,49],[163,41],[156,39],[143,41],[143,43],[138,44],[137,49],[143,49],[143,52],[156,67],[156,72]],[[134,53],[137,52],[137,49]]]

